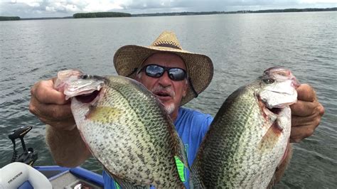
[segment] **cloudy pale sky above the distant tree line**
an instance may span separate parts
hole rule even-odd
[[[162,13],[328,7],[337,7],[337,0],[0,0],[0,16],[36,18],[92,11]]]

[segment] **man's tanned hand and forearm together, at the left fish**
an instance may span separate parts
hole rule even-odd
[[[70,101],[53,88],[55,78],[37,82],[31,88],[29,111],[46,127],[46,142],[59,166],[80,166],[91,153],[82,141],[70,109]]]

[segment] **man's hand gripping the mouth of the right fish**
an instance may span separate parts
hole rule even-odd
[[[318,102],[316,92],[310,85],[300,85],[297,88],[297,95],[297,102],[290,106],[290,142],[299,142],[311,136],[324,114],[324,108]]]

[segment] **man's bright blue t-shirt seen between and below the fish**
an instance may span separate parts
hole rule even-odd
[[[176,126],[176,131],[185,145],[187,152],[188,165],[192,166],[194,158],[196,158],[196,153],[198,148],[203,141],[203,136],[205,136],[210,123],[213,121],[213,117],[210,114],[203,114],[196,110],[179,108],[178,117],[174,121]],[[185,186],[189,188],[189,173],[187,168],[184,169],[186,181]],[[105,172],[103,171],[103,180],[105,188],[118,188],[117,183]]]

